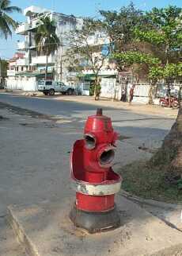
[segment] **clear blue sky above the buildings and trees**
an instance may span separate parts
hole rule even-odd
[[[22,10],[28,6],[40,6],[62,14],[74,14],[78,17],[98,17],[98,10],[119,10],[130,2],[130,0],[12,0],[11,6],[21,7]],[[169,5],[182,7],[181,0],[133,0],[133,2],[141,10]],[[23,14],[12,14],[11,17],[20,22],[25,21]],[[0,57],[12,57],[13,53],[17,51],[18,40],[23,41],[24,38],[15,35],[15,33],[7,41],[0,38]]]

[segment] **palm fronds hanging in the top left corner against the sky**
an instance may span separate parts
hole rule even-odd
[[[17,6],[10,6],[11,1],[0,0],[0,35],[7,39],[12,35],[11,30],[17,28],[17,21],[14,21],[8,14],[12,14],[14,11],[21,13],[21,9]]]

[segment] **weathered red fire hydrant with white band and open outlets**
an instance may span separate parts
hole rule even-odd
[[[114,198],[122,179],[111,167],[116,140],[111,118],[98,109],[96,115],[87,119],[84,139],[74,143],[71,153],[76,203],[70,211],[70,219],[89,233],[116,228],[120,224]]]

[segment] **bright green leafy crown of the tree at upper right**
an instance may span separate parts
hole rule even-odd
[[[175,63],[180,59],[182,51],[182,8],[169,6],[154,8],[146,13],[150,26],[135,29],[139,41],[154,45],[162,53],[163,64]]]

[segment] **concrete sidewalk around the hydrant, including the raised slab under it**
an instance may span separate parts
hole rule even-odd
[[[82,130],[31,115],[0,108],[0,215],[6,219],[12,205],[9,221],[32,255],[180,255],[181,232],[122,196],[117,197],[122,227],[100,235],[75,229],[67,217],[74,203],[69,157]],[[122,140],[114,168],[150,156]],[[4,227],[3,233],[7,231]],[[11,247],[12,236],[5,239],[0,233],[1,256],[25,254],[19,246]]]

